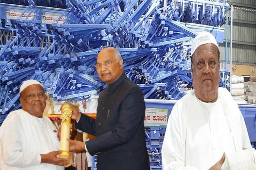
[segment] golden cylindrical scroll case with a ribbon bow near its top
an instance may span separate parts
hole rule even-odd
[[[61,134],[60,134],[60,150],[62,150],[59,158],[69,158],[69,139],[72,108],[69,104],[63,104],[61,109]]]

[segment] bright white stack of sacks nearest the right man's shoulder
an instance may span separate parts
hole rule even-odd
[[[244,100],[244,77],[232,75],[231,95],[237,103],[246,103]]]

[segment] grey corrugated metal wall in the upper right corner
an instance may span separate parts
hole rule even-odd
[[[256,0],[228,0],[228,3],[240,3],[247,6],[256,6]],[[226,14],[230,17],[230,12]],[[234,8],[233,12],[233,61],[256,64],[256,13]],[[247,23],[241,23],[241,22]],[[248,22],[253,22],[250,24]],[[225,25],[223,26],[225,28]],[[230,41],[230,22],[228,25],[228,42]],[[244,45],[248,44],[248,45]],[[228,43],[230,46],[230,43]],[[225,43],[220,45],[221,59],[225,56]],[[228,61],[230,47],[228,47]]]

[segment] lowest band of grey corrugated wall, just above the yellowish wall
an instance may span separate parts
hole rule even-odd
[[[220,44],[220,60],[225,60],[225,43]],[[227,60],[230,56],[230,44],[228,43]],[[256,63],[256,46],[233,44],[232,61],[242,63]]]

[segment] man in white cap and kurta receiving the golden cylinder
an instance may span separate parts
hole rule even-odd
[[[64,170],[60,142],[52,121],[43,115],[44,88],[36,80],[20,86],[22,109],[11,112],[0,127],[1,170]]]

